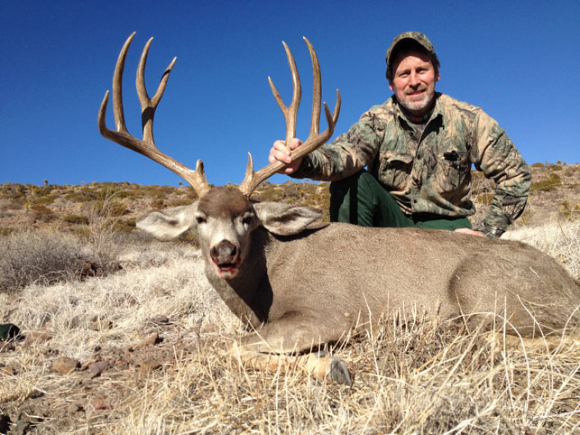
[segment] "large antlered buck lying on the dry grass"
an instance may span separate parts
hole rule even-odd
[[[152,39],[146,42],[136,75],[143,139],[124,123],[122,79],[134,32],[124,42],[113,76],[115,130],[106,127],[109,91],[98,112],[106,138],[149,157],[188,181],[198,199],[188,206],[153,211],[136,226],[160,240],[197,230],[208,282],[247,326],[231,349],[245,367],[285,370],[299,367],[318,379],[351,385],[353,375],[327,345],[354,330],[369,328],[382,315],[412,310],[433,312],[465,325],[497,322],[516,338],[544,338],[580,325],[580,285],[557,261],[530,245],[510,240],[421,228],[358,227],[321,223],[318,208],[256,202],[253,191],[285,167],[273,162],[253,171],[252,154],[242,183],[210,186],[203,162],[196,169],[173,160],[153,140],[153,116],[176,58],[165,69],[153,97],[144,69]],[[291,152],[295,160],[332,136],[341,97],[319,133],[321,79],[318,57],[308,46],[313,69],[313,103],[308,139]],[[293,92],[286,106],[269,77],[272,94],[286,122],[286,143],[295,137],[301,86],[296,62],[282,42],[290,65]]]

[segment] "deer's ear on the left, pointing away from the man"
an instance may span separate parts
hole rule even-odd
[[[153,211],[137,220],[137,228],[159,240],[172,240],[194,224],[197,209],[198,201],[189,206]]]

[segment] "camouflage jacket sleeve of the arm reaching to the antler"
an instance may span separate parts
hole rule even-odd
[[[291,177],[327,181],[350,177],[373,161],[381,147],[384,128],[385,121],[372,108],[347,133],[305,156]]]

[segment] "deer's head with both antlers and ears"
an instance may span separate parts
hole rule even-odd
[[[304,227],[307,227],[309,223],[318,219],[320,212],[315,208],[290,207],[278,203],[253,203],[250,200],[253,190],[263,180],[267,180],[277,171],[281,171],[286,165],[285,163],[274,162],[259,171],[253,171],[252,155],[248,153],[245,177],[239,188],[210,187],[207,183],[201,160],[198,160],[195,171],[192,171],[182,163],[159,151],[153,140],[153,116],[161,101],[171,69],[175,65],[177,58],[173,59],[167,69],[165,69],[155,95],[152,98],[149,97],[145,88],[144,70],[152,39],[143,48],[136,78],[137,95],[142,109],[143,139],[137,139],[132,134],[129,134],[124,123],[122,81],[126,54],[133,41],[134,34],[133,32],[127,41],[124,42],[113,75],[113,110],[116,130],[113,131],[106,128],[106,106],[109,96],[107,91],[98,113],[99,131],[107,139],[137,153],[142,153],[154,162],[158,162],[170,171],[177,173],[191,184],[199,197],[198,201],[190,206],[153,212],[141,218],[137,222],[137,227],[161,240],[170,240],[180,236],[187,229],[196,227],[207,264],[212,264],[213,271],[217,276],[225,279],[234,278],[250,249],[250,234],[253,229],[263,226],[278,235],[297,234]],[[340,93],[336,89],[334,112],[331,114],[327,104],[324,103],[328,127],[327,130],[319,133],[322,88],[320,68],[316,51],[314,51],[308,39],[304,38],[304,41],[308,46],[310,59],[312,60],[314,77],[312,116],[308,139],[290,153],[292,160],[303,157],[327,142],[334,132],[340,111]],[[294,57],[288,45],[285,42],[282,43],[290,64],[293,82],[290,106],[284,105],[272,79],[268,78],[268,80],[272,93],[286,120],[286,143],[290,143],[290,140],[296,136],[296,117],[301,98],[301,87]]]

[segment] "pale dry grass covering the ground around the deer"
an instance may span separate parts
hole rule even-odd
[[[511,237],[577,276],[578,224],[570,225]],[[508,350],[459,322],[417,315],[382,319],[333,350],[354,372],[352,388],[292,367],[254,373],[227,354],[244,330],[206,281],[197,249],[134,241],[119,260],[124,270],[109,276],[0,293],[0,322],[26,335],[0,342],[0,416],[29,433],[580,430],[578,344]],[[59,356],[108,366],[60,375],[50,370]]]

